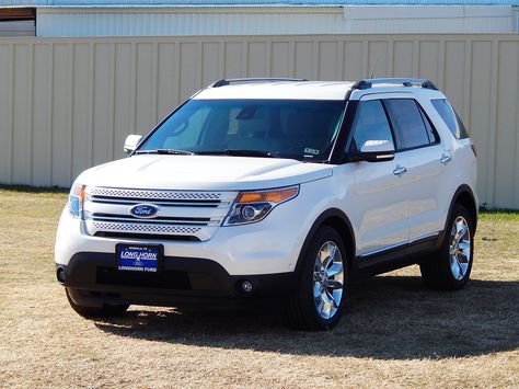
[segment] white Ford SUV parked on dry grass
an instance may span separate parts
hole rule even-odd
[[[428,80],[220,80],[72,185],[57,278],[84,317],[285,297],[333,328],[356,278],[469,279],[476,158]]]

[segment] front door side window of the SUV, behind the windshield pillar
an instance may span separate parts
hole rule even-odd
[[[380,100],[361,102],[354,123],[354,141],[360,150],[367,140],[387,140],[394,149],[393,135]]]

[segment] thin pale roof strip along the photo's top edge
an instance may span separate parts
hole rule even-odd
[[[519,4],[519,0],[0,0],[3,7],[150,8],[150,7],[342,7],[342,5],[486,5]]]

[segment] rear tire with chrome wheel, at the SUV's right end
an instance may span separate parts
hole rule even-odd
[[[420,264],[422,279],[432,289],[460,290],[471,275],[474,221],[464,206],[455,204],[447,226],[440,250]]]

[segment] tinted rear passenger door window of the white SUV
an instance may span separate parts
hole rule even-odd
[[[384,104],[397,134],[401,149],[413,149],[434,142],[429,139],[429,130],[414,100],[389,99],[384,100]]]

